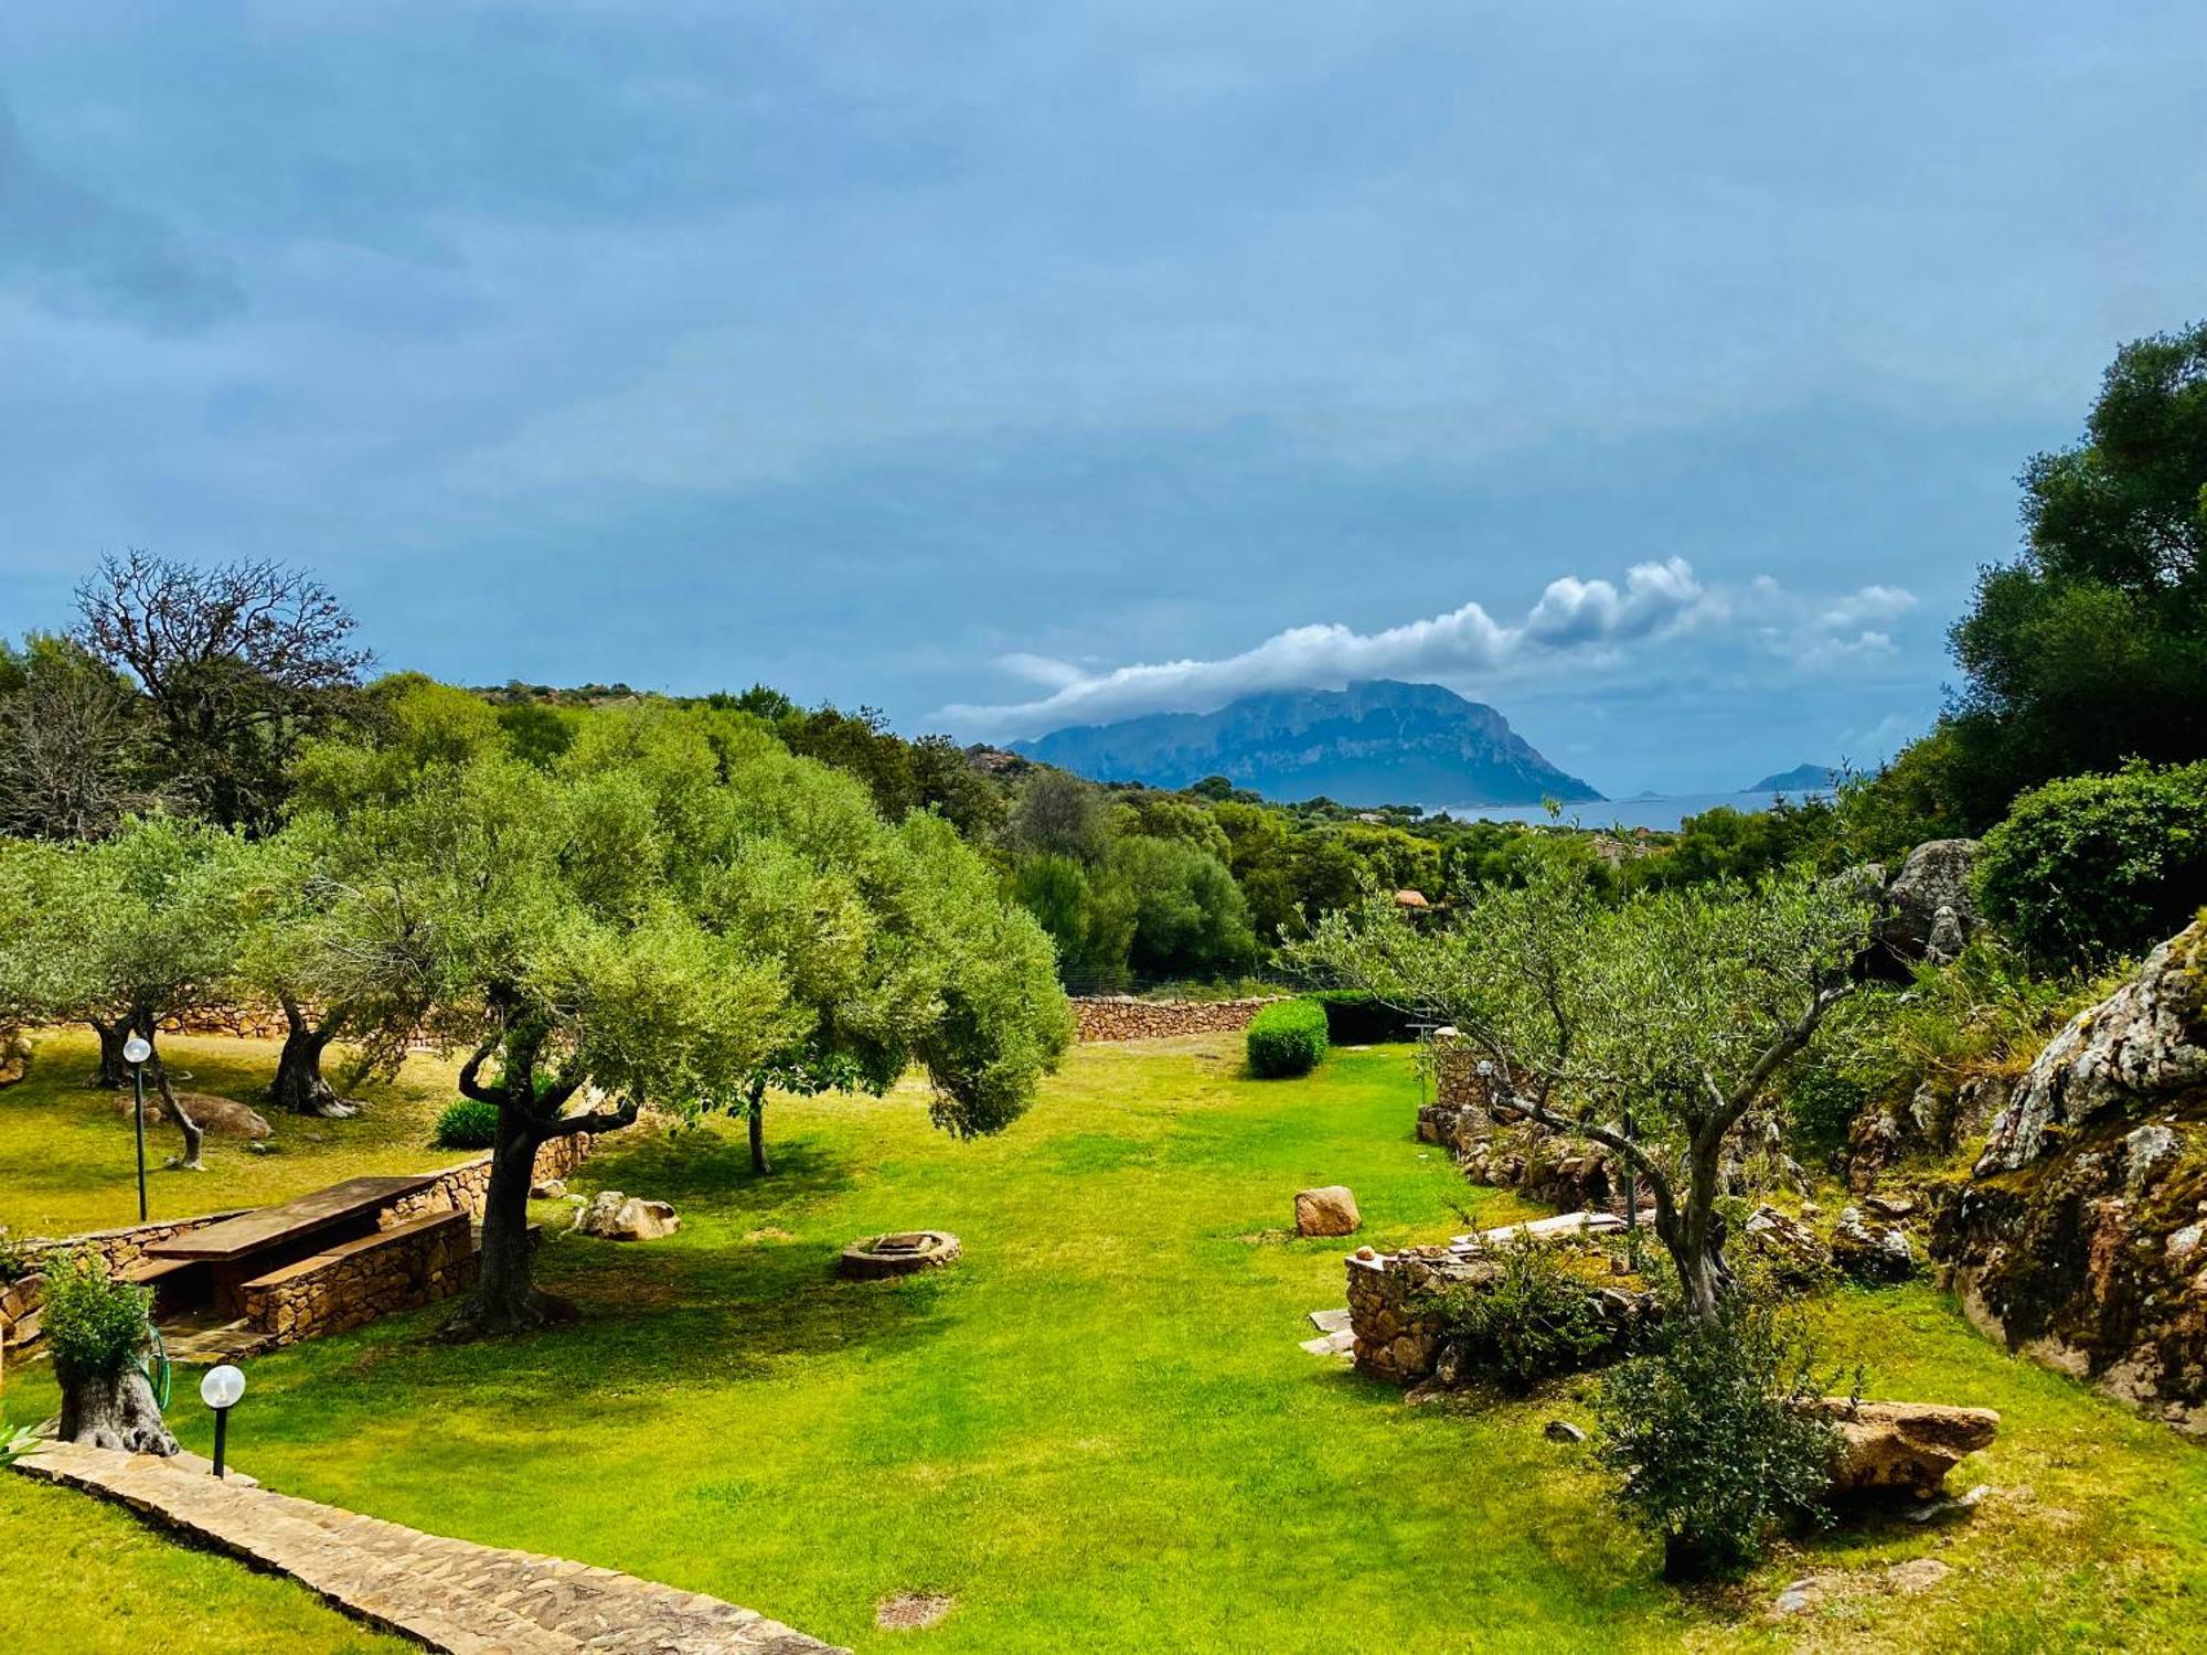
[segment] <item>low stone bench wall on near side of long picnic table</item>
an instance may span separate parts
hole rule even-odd
[[[316,1339],[393,1311],[466,1293],[477,1253],[459,1209],[386,1225],[245,1284],[245,1322],[256,1350]]]

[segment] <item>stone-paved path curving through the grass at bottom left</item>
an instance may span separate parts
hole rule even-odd
[[[46,1443],[18,1470],[119,1501],[450,1655],[847,1655],[719,1598],[216,1483],[174,1461]]]

